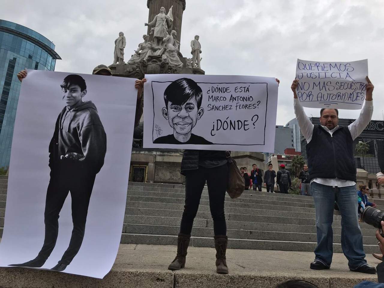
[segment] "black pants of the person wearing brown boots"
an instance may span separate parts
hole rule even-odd
[[[209,208],[214,220],[214,234],[227,235],[227,224],[224,215],[224,199],[228,180],[228,165],[214,168],[199,166],[185,174],[185,205],[181,218],[180,233],[190,234],[193,221],[199,209],[200,197],[205,181],[209,194]]]

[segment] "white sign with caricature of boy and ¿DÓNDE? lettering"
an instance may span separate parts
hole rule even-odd
[[[275,78],[146,75],[144,147],[273,152]]]

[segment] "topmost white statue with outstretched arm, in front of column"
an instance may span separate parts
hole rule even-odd
[[[153,39],[156,46],[164,46],[163,38],[168,35],[168,31],[172,29],[172,7],[170,7],[168,14],[166,15],[166,8],[161,7],[160,13],[155,16],[152,22],[144,23],[145,26],[155,26],[153,30]]]

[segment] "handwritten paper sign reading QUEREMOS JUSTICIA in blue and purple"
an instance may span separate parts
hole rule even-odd
[[[366,94],[368,60],[316,62],[297,60],[297,96],[304,107],[361,109]]]

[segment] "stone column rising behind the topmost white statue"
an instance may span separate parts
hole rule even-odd
[[[183,12],[185,10],[185,0],[147,0],[147,7],[149,8],[148,23],[159,14],[160,8],[166,8],[166,14],[169,8],[173,5],[173,28],[177,32],[176,39],[180,41],[181,35],[181,22],[183,18]],[[151,32],[151,27],[148,27],[148,35]]]

